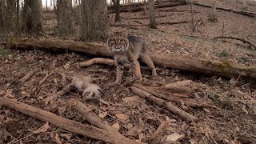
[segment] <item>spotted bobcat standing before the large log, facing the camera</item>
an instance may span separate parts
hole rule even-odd
[[[130,64],[133,71],[133,77],[142,81],[142,75],[138,58],[142,59],[152,70],[152,75],[156,76],[157,72],[149,56],[149,47],[146,41],[135,36],[128,36],[126,32],[114,32],[110,34],[107,40],[107,46],[114,54],[114,62],[116,65],[116,81],[114,83],[121,84],[122,72],[124,64]]]

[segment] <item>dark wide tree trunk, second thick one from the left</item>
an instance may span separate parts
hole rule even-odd
[[[38,34],[42,31],[42,0],[24,0],[22,30]]]

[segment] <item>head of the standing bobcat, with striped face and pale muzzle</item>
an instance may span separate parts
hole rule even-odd
[[[114,32],[110,34],[107,40],[108,48],[114,53],[126,52],[129,47],[127,36],[128,34],[125,32]]]

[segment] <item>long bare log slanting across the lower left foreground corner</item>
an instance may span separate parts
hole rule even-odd
[[[27,105],[26,103],[17,102],[10,98],[0,97],[0,107],[6,106],[12,110],[27,114],[30,117],[37,118],[43,122],[50,122],[54,126],[61,127],[63,130],[70,131],[74,134],[81,134],[86,137],[102,140],[110,143],[142,143],[136,142],[126,137],[121,137],[113,133],[112,131],[98,129],[94,126],[84,125],[80,122],[75,122],[70,119],[62,118],[56,114],[50,113],[49,111],[39,109],[35,106]]]

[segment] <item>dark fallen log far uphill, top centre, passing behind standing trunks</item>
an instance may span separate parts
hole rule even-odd
[[[154,9],[159,9],[159,8],[164,8],[164,7],[173,7],[173,6],[183,6],[186,5],[186,2],[164,2],[164,3],[159,3],[158,5],[154,6]],[[144,8],[143,6],[138,6],[138,7],[120,7],[120,12],[138,12],[138,11],[143,11]],[[115,10],[109,10],[109,13],[114,13]]]

